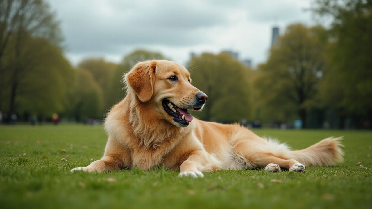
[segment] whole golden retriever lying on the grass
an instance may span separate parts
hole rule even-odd
[[[123,76],[127,95],[110,109],[105,154],[87,167],[97,171],[164,165],[179,177],[204,177],[224,169],[281,168],[299,173],[305,166],[343,161],[339,138],[327,138],[302,150],[257,136],[238,124],[205,122],[188,112],[201,110],[208,96],[192,86],[182,65],[166,60],[138,62]]]

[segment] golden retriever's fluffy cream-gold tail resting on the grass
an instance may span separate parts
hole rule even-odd
[[[305,166],[330,166],[343,162],[342,137],[326,138],[306,149],[289,151],[291,158]]]

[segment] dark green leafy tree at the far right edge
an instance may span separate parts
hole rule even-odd
[[[362,115],[372,129],[372,0],[316,0],[314,5],[313,12],[333,18],[321,98],[341,119]]]

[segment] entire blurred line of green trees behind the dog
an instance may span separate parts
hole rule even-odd
[[[202,53],[186,68],[208,95],[203,120],[303,128],[372,128],[372,0],[315,0],[330,28],[289,25],[265,63],[250,69],[230,54]],[[137,61],[167,59],[136,50],[119,64],[63,55],[60,23],[41,0],[0,1],[0,110],[3,115],[103,119],[125,96],[122,75]]]

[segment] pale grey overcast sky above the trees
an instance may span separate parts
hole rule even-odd
[[[120,62],[134,49],[185,64],[190,52],[232,50],[266,61],[272,27],[314,25],[310,0],[47,0],[61,20],[66,56]]]

